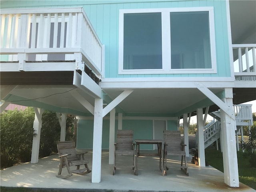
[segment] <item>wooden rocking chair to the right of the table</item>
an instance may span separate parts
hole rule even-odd
[[[164,174],[169,170],[167,166],[167,155],[181,156],[180,169],[188,176],[188,166],[186,160],[185,144],[181,143],[180,131],[167,131],[164,130]],[[183,158],[185,166],[183,166]]]

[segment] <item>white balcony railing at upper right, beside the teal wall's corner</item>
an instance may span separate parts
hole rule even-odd
[[[239,72],[234,73],[236,80],[256,81],[256,44],[233,44],[232,48],[238,58]],[[252,53],[249,54],[249,51]]]

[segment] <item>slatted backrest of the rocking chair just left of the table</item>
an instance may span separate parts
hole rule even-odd
[[[116,150],[133,150],[133,130],[117,130],[116,143]]]

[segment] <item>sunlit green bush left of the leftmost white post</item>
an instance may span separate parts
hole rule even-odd
[[[34,109],[26,108],[4,112],[0,116],[0,166],[12,166],[31,158]]]

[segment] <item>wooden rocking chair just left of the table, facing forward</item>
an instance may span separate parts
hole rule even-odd
[[[116,170],[116,155],[132,155],[133,162],[132,166],[118,166],[118,167],[132,167],[134,170],[134,162],[135,162],[135,143],[133,142],[133,130],[117,130],[116,132],[116,143],[115,152],[114,152],[114,167],[113,167],[113,175]],[[135,171],[135,170],[134,170]],[[134,172],[135,174],[135,172]]]

